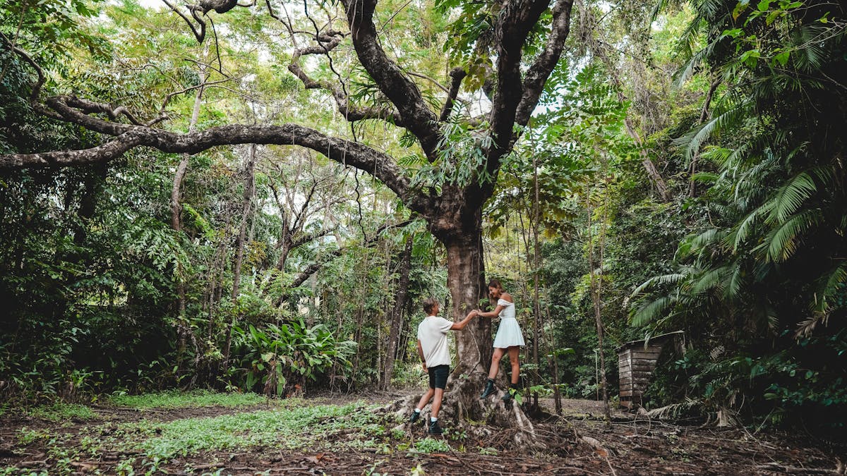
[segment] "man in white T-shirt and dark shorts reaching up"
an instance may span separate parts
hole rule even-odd
[[[435,396],[429,416],[429,434],[441,434],[441,427],[438,426],[438,411],[441,409],[441,398],[444,397],[444,389],[447,386],[447,376],[450,375],[447,331],[464,329],[471,318],[479,312],[471,311],[462,322],[453,323],[446,318],[440,318],[439,310],[440,304],[435,297],[424,300],[424,313],[427,313],[427,317],[418,324],[418,355],[424,365],[424,372],[429,373],[429,390],[418,401],[418,407],[415,407],[415,411],[409,417],[410,423],[418,421],[421,410],[429,399]]]

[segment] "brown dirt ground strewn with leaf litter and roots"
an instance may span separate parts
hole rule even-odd
[[[408,395],[405,393],[404,395]],[[322,396],[321,403],[371,401],[387,403],[398,393],[368,393],[352,396]],[[551,405],[550,401],[543,404]],[[212,417],[233,412],[249,412],[257,407],[207,407],[174,410],[144,410],[120,407],[94,407],[93,420],[56,423],[37,418],[6,415],[0,418],[0,468],[20,468],[11,473],[58,473],[47,457],[46,443],[39,440],[21,445],[18,430],[53,429],[69,434],[68,445],[80,444],[80,429],[101,424],[133,422],[140,419],[170,421],[177,418]],[[624,412],[614,412],[613,422],[601,419],[596,401],[564,401],[562,418],[534,422],[543,448],[516,447],[508,431],[499,431],[484,440],[463,441],[465,448],[489,448],[496,454],[461,451],[449,441],[452,451],[420,453],[394,451],[334,450],[333,441],[346,437],[330,435],[328,444],[308,452],[252,448],[250,451],[220,451],[175,459],[162,473],[185,474],[186,465],[195,474],[844,474],[847,449],[833,442],[815,440],[805,434],[786,434],[749,429],[701,428],[656,421]],[[424,426],[408,428],[413,439],[427,436]],[[117,472],[120,459],[132,455],[103,451],[96,458],[72,462],[79,474]],[[0,474],[7,473],[0,469]]]

